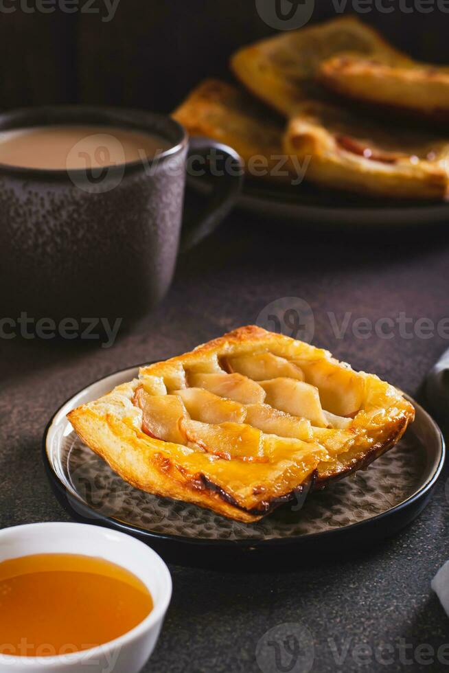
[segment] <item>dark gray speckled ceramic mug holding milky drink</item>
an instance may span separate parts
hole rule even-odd
[[[168,290],[179,250],[209,235],[229,212],[242,182],[239,157],[208,139],[189,144],[180,124],[143,111],[52,106],[0,115],[0,130],[55,124],[139,130],[169,148],[152,161],[95,175],[0,164],[1,312],[129,322]],[[187,161],[211,149],[233,170],[214,180],[203,212],[183,229]]]

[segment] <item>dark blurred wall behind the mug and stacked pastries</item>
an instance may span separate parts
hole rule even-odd
[[[89,102],[170,111],[200,78],[227,73],[235,47],[273,32],[253,0],[120,0],[108,23],[103,0],[92,5],[100,14],[25,13],[20,1],[4,0],[18,9],[0,12],[1,107]],[[415,0],[383,3],[400,1]],[[32,8],[34,0],[26,2]],[[316,0],[312,19],[333,16],[333,7]],[[449,61],[449,14],[373,8],[360,18],[418,58]]]

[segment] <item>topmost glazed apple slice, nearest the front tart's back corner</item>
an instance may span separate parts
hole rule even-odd
[[[238,372],[238,374],[252,378],[253,381],[268,381],[270,378],[279,378],[279,376],[304,380],[304,374],[297,364],[285,358],[279,358],[273,353],[240,355],[226,358],[226,363],[230,372]]]

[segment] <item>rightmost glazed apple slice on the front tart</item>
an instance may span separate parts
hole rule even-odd
[[[306,381],[318,387],[323,409],[338,416],[353,416],[360,411],[365,396],[365,379],[360,374],[326,359],[298,364]]]

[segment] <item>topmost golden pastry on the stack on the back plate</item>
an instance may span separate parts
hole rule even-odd
[[[352,100],[382,106],[391,113],[413,114],[439,122],[449,119],[449,70],[400,65],[360,54],[334,56],[321,63],[320,81]]]

